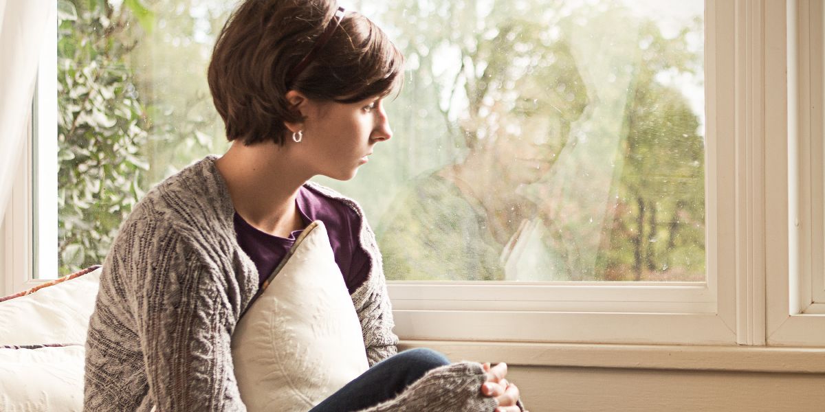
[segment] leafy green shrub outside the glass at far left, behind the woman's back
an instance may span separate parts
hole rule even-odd
[[[128,11],[59,1],[59,271],[102,263],[137,199],[144,110],[124,56]]]

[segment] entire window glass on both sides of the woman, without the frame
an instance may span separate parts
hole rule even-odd
[[[233,4],[59,4],[68,271],[226,147],[205,68]],[[408,61],[394,138],[354,180],[318,179],[365,208],[388,279],[705,280],[703,2],[343,4]]]

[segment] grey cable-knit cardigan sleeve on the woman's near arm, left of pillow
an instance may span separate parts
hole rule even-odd
[[[181,241],[158,261],[136,313],[149,396],[157,410],[246,411],[232,362],[224,284]]]

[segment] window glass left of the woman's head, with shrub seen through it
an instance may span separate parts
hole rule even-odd
[[[223,152],[206,67],[234,2],[59,0],[59,271],[102,263],[136,199]]]

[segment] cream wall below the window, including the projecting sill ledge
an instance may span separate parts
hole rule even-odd
[[[825,410],[825,349],[403,341],[507,362],[530,412]]]

